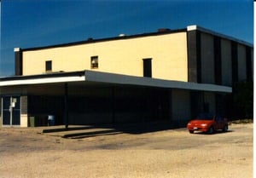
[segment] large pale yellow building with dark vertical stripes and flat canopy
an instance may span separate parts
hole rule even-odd
[[[199,26],[15,48],[15,76],[0,79],[0,124],[183,126],[199,112],[229,115],[241,80],[253,80],[253,45]]]

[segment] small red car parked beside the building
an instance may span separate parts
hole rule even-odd
[[[190,134],[193,134],[194,131],[202,131],[207,132],[208,134],[212,134],[218,129],[222,129],[224,132],[228,131],[229,124],[227,118],[203,113],[200,114],[197,118],[189,121],[187,128],[189,129]]]

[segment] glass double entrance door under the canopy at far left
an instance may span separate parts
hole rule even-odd
[[[20,96],[3,96],[3,125],[20,125]]]

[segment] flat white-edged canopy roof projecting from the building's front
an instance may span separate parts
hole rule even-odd
[[[0,93],[1,88],[9,88],[15,86],[23,86],[29,88],[31,85],[48,85],[61,83],[78,83],[78,84],[110,84],[110,85],[134,85],[144,87],[158,87],[166,89],[189,89],[200,91],[212,91],[232,93],[232,88],[216,84],[207,83],[189,83],[180,81],[163,80],[157,78],[143,78],[108,72],[60,72],[49,73],[34,76],[19,76],[0,78]]]

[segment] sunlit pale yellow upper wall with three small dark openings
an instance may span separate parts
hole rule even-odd
[[[91,70],[91,56],[98,56],[98,72],[143,77],[143,59],[150,58],[152,78],[188,81],[186,32],[24,51],[23,75],[45,73],[46,60],[52,72]]]

